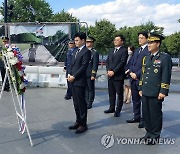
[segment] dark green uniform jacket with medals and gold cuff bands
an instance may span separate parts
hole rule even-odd
[[[159,93],[166,96],[169,92],[171,80],[172,61],[166,53],[158,52],[151,60],[151,55],[144,57],[142,64],[142,77],[139,90],[144,96],[157,97]]]

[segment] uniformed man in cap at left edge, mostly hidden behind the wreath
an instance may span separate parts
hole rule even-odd
[[[9,43],[9,38],[8,37],[2,37],[2,45],[3,47]],[[4,82],[5,74],[6,74],[6,69],[4,66],[4,62],[2,60],[2,56],[0,55],[0,70],[1,70],[1,77],[2,77],[2,83]],[[5,87],[3,89],[4,91],[9,92],[9,81],[8,79],[6,80]]]

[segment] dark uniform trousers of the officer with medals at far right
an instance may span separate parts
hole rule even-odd
[[[142,96],[142,113],[146,136],[154,139],[162,130],[162,102],[157,97]]]

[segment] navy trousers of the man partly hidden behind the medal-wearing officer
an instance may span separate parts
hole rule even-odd
[[[132,93],[132,101],[133,101],[134,119],[140,119],[141,118],[141,96],[139,95],[137,82],[135,80],[131,82],[131,93]]]

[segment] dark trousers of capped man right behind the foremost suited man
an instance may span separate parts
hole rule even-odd
[[[86,85],[86,103],[92,105],[95,97],[95,80],[91,80],[91,78],[87,78]]]

